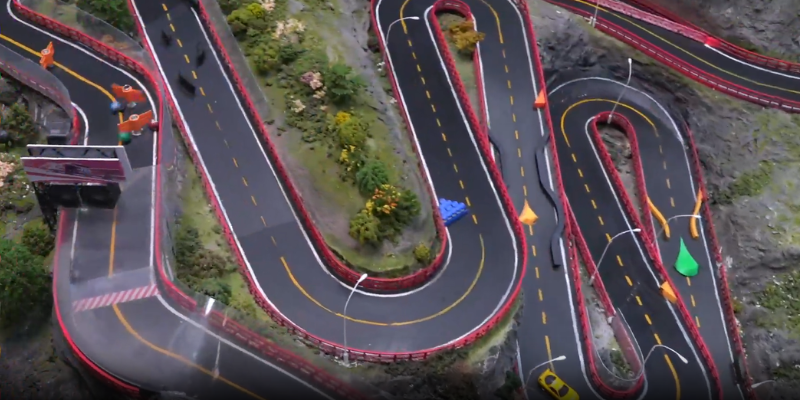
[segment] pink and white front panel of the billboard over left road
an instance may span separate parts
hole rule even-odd
[[[119,159],[22,157],[31,182],[51,184],[124,183],[126,168]]]

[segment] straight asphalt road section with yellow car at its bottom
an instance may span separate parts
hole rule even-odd
[[[550,130],[543,112],[533,109],[543,88],[539,87],[542,80],[532,58],[532,35],[521,11],[510,0],[465,3],[478,31],[486,34],[478,49],[484,82],[484,93],[478,95],[484,97],[486,110],[476,113],[484,112],[482,118],[500,153],[503,178],[514,206],[521,211],[527,203],[538,216],[533,226],[525,227],[530,273],[523,286],[527,318],[519,331],[520,373],[532,382],[550,368],[589,398],[592,389],[584,372],[576,299],[565,264],[563,238],[555,257],[564,265],[554,267],[551,250],[553,236],[563,235],[557,230],[557,219],[563,216],[557,215],[553,203],[561,200],[550,166]],[[560,356],[566,359],[547,363]],[[531,382],[529,398],[545,395]]]

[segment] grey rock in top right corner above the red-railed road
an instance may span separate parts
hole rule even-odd
[[[649,1],[736,44],[749,42],[771,56],[800,59],[800,2],[796,0]]]

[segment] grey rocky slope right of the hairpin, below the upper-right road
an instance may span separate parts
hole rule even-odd
[[[689,7],[701,2],[677,3]],[[800,30],[795,21],[800,3],[774,1],[769,8],[763,3],[759,6],[738,0],[703,3],[698,11],[683,9],[681,14],[717,15],[728,4],[728,8],[733,6],[743,15],[750,13],[753,17],[749,22],[727,20],[719,29],[752,34],[754,41],[773,46],[770,48],[795,46],[791,48],[800,54],[797,42],[789,40],[797,37],[792,29]],[[711,197],[717,200],[712,203],[714,225],[729,267],[731,290],[741,305],[737,307],[738,318],[750,371],[757,381],[781,379],[773,399],[781,398],[784,393],[792,396],[797,389],[794,385],[800,381],[800,367],[796,367],[800,365],[800,346],[795,340],[800,337],[797,332],[800,329],[796,322],[788,321],[794,321],[790,316],[797,314],[791,311],[797,307],[794,304],[797,297],[792,296],[795,287],[800,286],[779,287],[779,300],[774,301],[781,304],[777,310],[765,309],[761,303],[765,301],[765,286],[777,281],[776,276],[792,271],[800,261],[800,201],[797,200],[800,185],[796,184],[800,173],[800,138],[796,137],[800,118],[721,95],[593,30],[563,9],[542,1],[530,0],[529,4],[548,80],[569,69],[624,80],[626,59],[631,57],[633,85],[689,123],[706,184]],[[775,7],[784,8],[777,12]],[[787,11],[790,7],[795,7],[795,11]],[[773,22],[752,25],[756,18]],[[706,22],[698,20],[697,24]],[[785,25],[779,28],[770,23]],[[779,34],[785,38],[778,38]],[[625,171],[621,172],[624,179]],[[763,386],[763,390],[769,391],[769,385]],[[761,395],[766,398],[768,393]]]

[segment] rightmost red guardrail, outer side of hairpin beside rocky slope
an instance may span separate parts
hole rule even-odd
[[[714,230],[714,223],[711,216],[711,206],[708,205],[708,190],[706,189],[706,184],[703,179],[703,169],[700,167],[700,157],[697,154],[697,146],[695,145],[694,136],[692,135],[691,129],[689,129],[688,125],[685,128],[686,137],[689,139],[689,148],[692,150],[692,173],[694,175],[695,182],[698,183],[700,186],[700,191],[703,193],[703,223],[705,224],[706,232],[708,232],[708,234],[711,236],[711,251],[714,253],[714,261],[716,261],[719,269],[717,284],[719,285],[719,291],[722,295],[722,309],[725,313],[725,323],[728,325],[728,336],[730,336],[731,340],[733,341],[736,355],[744,357],[744,345],[739,332],[739,323],[736,320],[736,315],[733,311],[733,300],[731,299],[731,291],[728,287],[728,272],[725,264],[723,263],[724,260],[722,259],[722,248],[719,245],[717,233]],[[742,372],[745,379],[744,386],[747,396],[752,400],[757,400],[758,397],[752,388],[753,378],[750,376],[750,371],[747,368],[747,362],[744,363],[743,367],[744,368]]]

